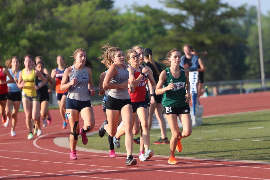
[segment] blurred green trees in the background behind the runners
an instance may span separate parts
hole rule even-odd
[[[201,57],[207,68],[205,81],[260,77],[256,7],[233,8],[221,0],[161,2],[173,10],[133,4],[119,13],[112,0],[0,0],[2,64],[13,55],[21,60],[27,54],[41,55],[52,70],[57,55],[70,66],[72,52],[84,48],[97,86],[105,67],[97,59],[101,52],[95,41],[123,50],[135,44],[149,47],[156,61],[164,60],[170,49],[191,44],[208,52]],[[262,16],[267,78],[269,18]]]

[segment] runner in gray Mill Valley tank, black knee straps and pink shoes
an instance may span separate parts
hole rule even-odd
[[[77,159],[76,145],[79,133],[82,135],[82,143],[87,144],[86,133],[91,131],[95,126],[95,118],[91,107],[88,88],[92,84],[92,71],[85,67],[86,52],[84,49],[76,49],[73,52],[75,61],[74,65],[65,69],[60,85],[60,90],[67,91],[66,112],[70,123],[71,133],[70,142],[70,159]],[[95,90],[91,89],[91,95]],[[79,113],[83,119],[84,125],[79,128]]]

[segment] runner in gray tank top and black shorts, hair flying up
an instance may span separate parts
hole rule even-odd
[[[99,59],[103,59],[106,67],[109,67],[105,75],[103,88],[110,89],[109,96],[106,103],[107,119],[99,129],[99,136],[103,137],[107,132],[111,137],[116,135],[118,119],[121,113],[124,127],[125,127],[125,146],[127,150],[126,165],[136,165],[136,159],[133,159],[133,134],[132,122],[133,111],[131,107],[131,99],[128,94],[134,92],[132,85],[128,84],[129,73],[125,64],[125,54],[119,47],[106,46],[101,44],[103,55]]]

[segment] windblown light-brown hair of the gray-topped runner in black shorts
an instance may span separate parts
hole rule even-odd
[[[102,59],[101,63],[103,63],[108,69],[113,64],[112,58],[114,58],[116,52],[122,51],[122,49],[119,47],[110,46],[109,44],[100,44],[97,41],[96,43],[101,46],[101,52],[103,52],[103,55],[99,56],[98,59]]]

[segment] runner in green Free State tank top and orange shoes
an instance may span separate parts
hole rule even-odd
[[[163,70],[159,76],[156,94],[164,94],[162,104],[164,106],[165,117],[172,131],[170,140],[169,164],[178,164],[174,152],[182,151],[181,138],[190,136],[192,132],[192,121],[190,116],[190,84],[187,68],[180,67],[181,52],[178,49],[170,50],[166,58],[162,61],[167,64],[167,69]],[[177,117],[183,124],[183,130],[179,132]]]

